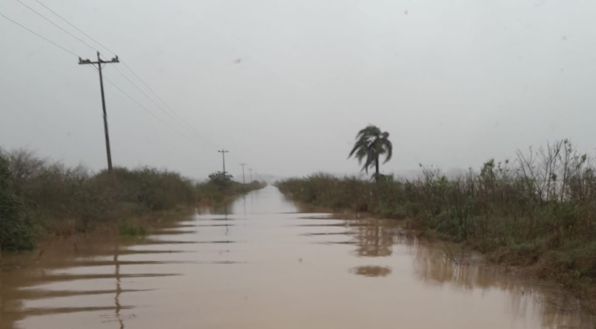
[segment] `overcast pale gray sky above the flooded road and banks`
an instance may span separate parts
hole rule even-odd
[[[193,136],[106,82],[114,165],[201,178],[221,169],[216,149],[226,148],[236,175],[240,162],[283,176],[357,172],[346,157],[369,123],[393,141],[385,173],[479,167],[565,137],[594,149],[594,1],[39,1],[200,133],[145,98],[125,65],[107,65],[107,79]],[[17,0],[0,12],[95,56]],[[105,167],[97,72],[2,17],[0,45],[0,146]]]

